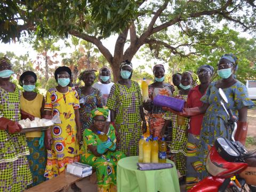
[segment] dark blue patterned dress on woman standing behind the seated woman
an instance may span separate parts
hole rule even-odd
[[[98,89],[94,89],[93,93],[84,95],[81,88],[78,87],[77,93],[79,95],[79,114],[82,123],[82,133],[85,129],[92,125],[91,111],[97,107],[102,107],[101,93]]]

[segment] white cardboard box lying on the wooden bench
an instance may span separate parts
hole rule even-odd
[[[83,163],[74,162],[68,164],[67,172],[70,174],[77,175],[78,177],[87,177],[92,174],[92,166],[85,165]]]

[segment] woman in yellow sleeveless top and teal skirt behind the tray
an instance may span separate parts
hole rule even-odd
[[[20,108],[34,117],[42,118],[44,113],[44,96],[34,92],[36,80],[37,77],[33,71],[26,71],[20,76],[19,84],[24,89],[20,97]],[[30,151],[30,155],[27,158],[33,177],[31,186],[36,186],[45,181],[46,151],[44,148],[44,132],[28,132],[26,133],[26,138]]]

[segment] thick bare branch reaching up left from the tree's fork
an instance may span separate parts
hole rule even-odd
[[[79,33],[78,31],[76,31],[74,29],[73,30],[69,30],[68,33],[70,35],[74,35],[74,36],[76,36],[78,38],[82,38],[85,41],[90,42],[90,43],[96,45],[98,47],[98,49],[100,50],[100,52],[104,55],[104,57],[107,59],[107,61],[109,63],[111,63],[113,61],[112,54],[109,52],[109,50],[102,44],[102,42],[98,38],[90,36],[90,35],[86,35],[84,33]]]

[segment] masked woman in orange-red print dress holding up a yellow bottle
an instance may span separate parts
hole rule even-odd
[[[154,106],[152,101],[158,94],[171,97],[174,87],[164,82],[165,70],[163,65],[155,65],[153,73],[155,76],[155,82],[148,86],[149,100],[143,103],[143,107],[149,111],[148,123],[150,135],[153,135],[153,138],[158,137],[158,139],[161,140],[161,131],[165,123],[163,119],[164,111],[162,107]],[[166,123],[166,126],[171,129],[170,121]]]

